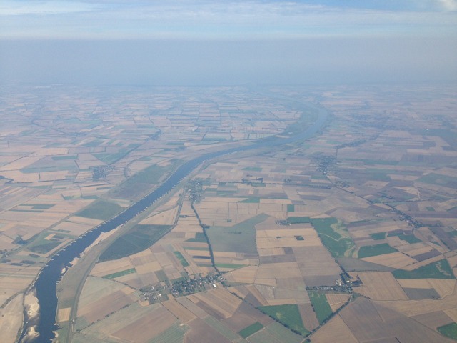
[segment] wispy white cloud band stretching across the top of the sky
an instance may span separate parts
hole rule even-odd
[[[456,4],[433,1],[446,3],[448,9]],[[256,0],[6,1],[0,15],[0,37],[10,38],[296,38],[455,32],[457,27],[455,15],[431,9],[387,11]]]

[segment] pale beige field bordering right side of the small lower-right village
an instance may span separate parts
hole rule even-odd
[[[373,300],[408,300],[408,296],[390,272],[357,272],[363,282],[357,292]]]

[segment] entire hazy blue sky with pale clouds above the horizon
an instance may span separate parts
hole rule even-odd
[[[2,0],[0,82],[457,81],[457,0]]]

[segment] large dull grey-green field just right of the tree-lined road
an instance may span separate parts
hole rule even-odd
[[[263,222],[268,215],[256,217],[233,225],[233,227],[209,227],[206,229],[211,248],[216,252],[241,252],[256,254],[256,224]]]

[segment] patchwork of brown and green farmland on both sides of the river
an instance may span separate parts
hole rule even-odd
[[[26,101],[34,91],[43,107]],[[57,289],[60,342],[408,342],[407,332],[450,342],[452,87],[60,94],[2,98],[17,114],[1,111],[0,136],[0,299],[11,322],[59,247],[189,159],[302,129],[316,117],[305,102],[318,101],[332,117],[316,136],[205,161],[81,254]]]

